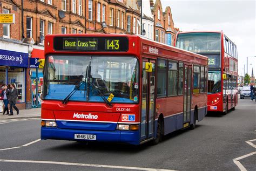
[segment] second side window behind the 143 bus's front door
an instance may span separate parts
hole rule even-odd
[[[178,63],[169,61],[168,65],[168,96],[178,95]]]

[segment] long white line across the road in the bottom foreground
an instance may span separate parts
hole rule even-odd
[[[0,162],[43,163],[43,164],[53,164],[53,165],[86,166],[86,167],[100,167],[100,168],[112,168],[112,169],[130,169],[130,170],[174,171],[174,170],[169,170],[169,169],[153,169],[153,168],[143,168],[143,167],[112,166],[112,165],[93,165],[93,164],[85,164],[85,163],[38,161],[38,160],[4,160],[4,159],[0,159]]]

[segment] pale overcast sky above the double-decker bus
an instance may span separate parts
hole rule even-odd
[[[238,48],[238,72],[256,76],[256,3],[254,0],[161,0],[171,7],[174,27],[181,31],[223,30]],[[252,64],[252,65],[250,65]]]

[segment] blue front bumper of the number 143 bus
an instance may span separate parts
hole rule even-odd
[[[96,140],[75,139],[75,134],[96,135]],[[41,127],[41,139],[120,142],[130,143],[132,145],[139,145],[140,133],[139,131],[88,131]]]

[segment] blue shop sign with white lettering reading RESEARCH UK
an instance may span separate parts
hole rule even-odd
[[[0,49],[0,65],[28,67],[29,54]]]

